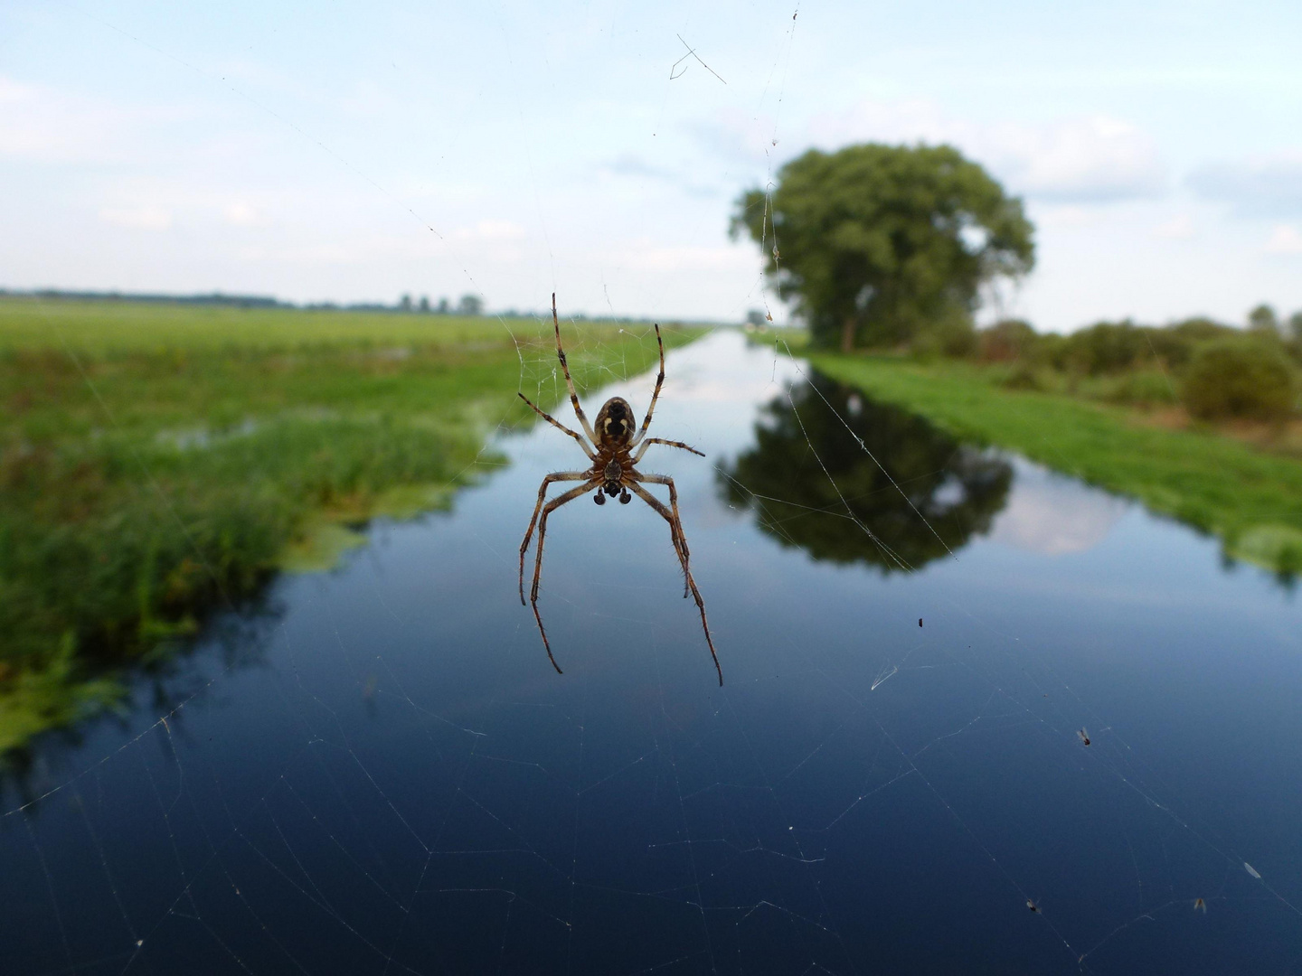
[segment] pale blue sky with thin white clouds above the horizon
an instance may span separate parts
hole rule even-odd
[[[1297,0],[7,0],[0,288],[781,321],[737,197],[921,141],[1036,226],[982,320],[1286,315],[1299,38]]]

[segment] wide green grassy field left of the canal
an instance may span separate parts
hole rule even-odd
[[[562,324],[581,386],[650,327]],[[0,752],[112,704],[280,569],[447,505],[564,396],[551,323],[0,299]],[[668,329],[667,345],[694,333]]]

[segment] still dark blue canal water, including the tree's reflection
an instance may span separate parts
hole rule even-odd
[[[552,670],[517,552],[582,458],[504,436],[452,513],[48,743],[52,793],[4,798],[4,972],[1302,967],[1286,584],[736,333],[668,373],[652,433],[708,458],[642,467],[677,480],[723,688],[637,500],[552,518]]]

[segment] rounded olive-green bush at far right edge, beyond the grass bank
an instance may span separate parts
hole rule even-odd
[[[1203,420],[1282,420],[1293,413],[1295,389],[1277,349],[1250,340],[1203,346],[1185,377],[1185,407]]]

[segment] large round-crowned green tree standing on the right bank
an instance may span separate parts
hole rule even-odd
[[[845,350],[970,334],[980,286],[1035,263],[1022,202],[952,146],[810,150],[741,195],[742,230],[814,341]]]

